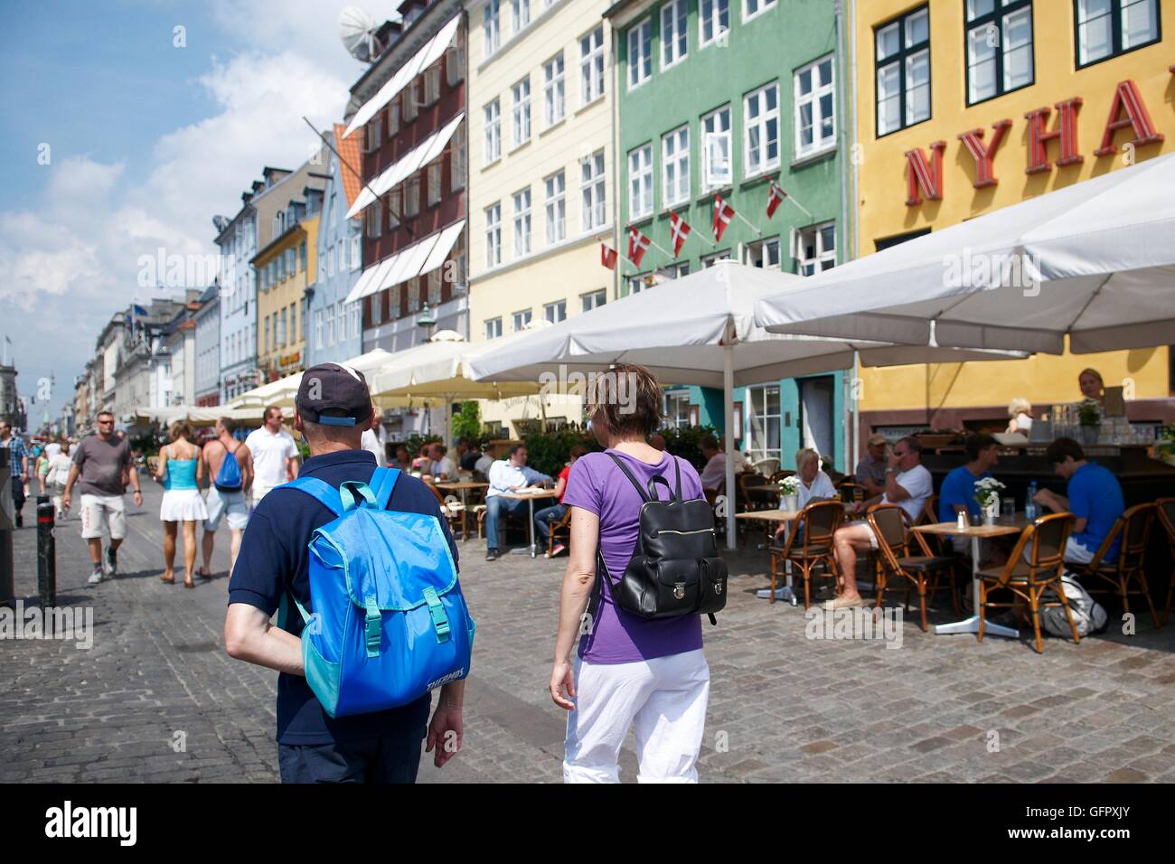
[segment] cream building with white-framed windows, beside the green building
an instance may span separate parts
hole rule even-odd
[[[611,0],[470,0],[470,341],[616,296]],[[486,402],[483,420],[580,420],[576,396]]]

